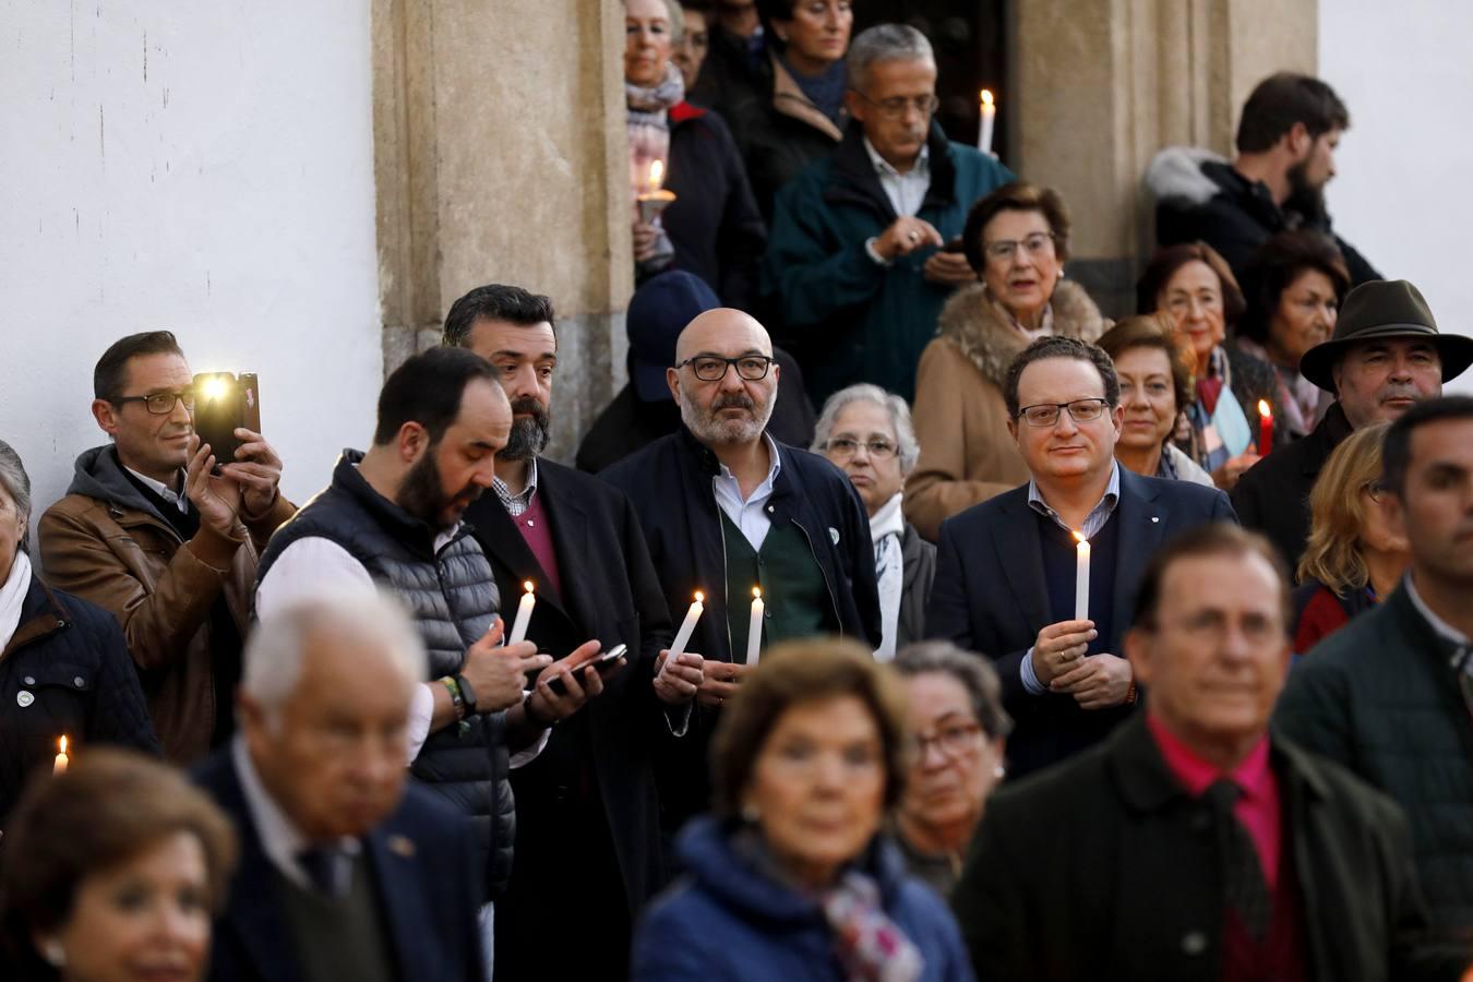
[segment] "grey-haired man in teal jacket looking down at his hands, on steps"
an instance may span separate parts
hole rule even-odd
[[[950,246],[972,203],[1013,175],[941,133],[935,57],[915,28],[856,37],[848,84],[843,141],[778,194],[763,290],[781,300],[815,403],[859,381],[910,400],[941,305],[977,281]]]

